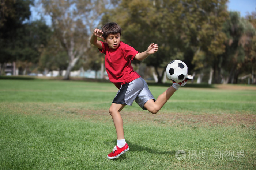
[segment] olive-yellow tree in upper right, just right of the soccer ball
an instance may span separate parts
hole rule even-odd
[[[226,35],[222,32],[222,25],[228,17],[226,2],[188,0],[183,3],[185,9],[181,29],[184,30],[188,50],[191,48],[194,53],[192,63],[195,70],[202,72],[207,69],[212,72],[209,74],[209,84],[212,76],[217,77],[218,55],[225,51],[223,43]]]

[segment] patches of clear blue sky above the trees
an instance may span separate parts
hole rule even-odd
[[[40,8],[31,7],[31,19],[32,20],[39,20],[40,16],[38,16],[37,10],[40,11]],[[241,17],[245,17],[248,12],[252,13],[256,11],[256,0],[229,0],[227,3],[227,10],[228,11],[238,11],[240,12]],[[45,16],[46,24],[51,25],[50,17]]]

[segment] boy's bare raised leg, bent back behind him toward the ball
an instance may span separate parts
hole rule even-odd
[[[176,91],[177,90],[175,88],[173,88],[173,86],[171,86],[165,92],[163,92],[161,95],[159,95],[155,102],[153,99],[148,100],[145,103],[144,107],[149,112],[156,114]]]

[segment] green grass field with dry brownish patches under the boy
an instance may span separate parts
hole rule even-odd
[[[156,115],[126,106],[130,150],[109,160],[112,83],[0,79],[0,169],[255,169],[256,87],[189,85]]]

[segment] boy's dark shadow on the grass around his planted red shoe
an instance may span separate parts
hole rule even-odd
[[[115,146],[116,145],[116,140],[113,141],[104,141],[104,143],[106,145],[111,145],[111,146]],[[145,147],[142,145],[139,145],[137,143],[133,143],[130,141],[127,141],[127,144],[129,145],[129,151],[136,151],[136,152],[142,152],[142,151],[146,151],[150,154],[168,154],[168,155],[173,155],[175,156],[176,151],[175,150],[166,150],[166,151],[159,151],[158,149],[154,149],[154,148],[150,148],[150,147]],[[119,157],[120,159],[126,159],[125,154],[121,155]],[[116,159],[113,159],[116,160]]]

